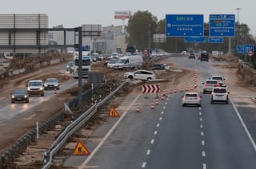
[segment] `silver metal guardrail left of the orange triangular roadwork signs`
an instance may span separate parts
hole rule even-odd
[[[118,92],[118,90],[122,88],[122,86],[125,84],[126,82],[123,82],[122,85],[116,88],[114,92],[111,92],[109,96],[106,96],[102,101],[93,104],[86,112],[79,116],[78,119],[74,120],[74,122],[72,122],[65,128],[65,130],[58,136],[58,138],[54,141],[52,146],[46,152],[46,156],[44,159],[44,162],[46,164],[42,167],[43,169],[50,167],[54,154],[63,146],[64,143],[66,143],[66,140],[71,135],[73,135],[74,132],[78,131],[78,129],[81,128],[82,125],[85,124],[91,116],[94,116],[94,113],[97,112],[98,107],[102,106],[102,104],[105,104],[106,101],[110,100],[110,98],[114,96],[114,94]]]

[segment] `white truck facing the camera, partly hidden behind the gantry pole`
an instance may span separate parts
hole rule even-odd
[[[79,57],[78,52],[74,52],[73,55],[73,76],[74,78],[78,78],[79,75]],[[88,77],[91,69],[91,59],[90,59],[90,51],[82,51],[82,77]]]

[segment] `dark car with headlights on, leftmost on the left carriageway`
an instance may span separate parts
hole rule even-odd
[[[15,102],[29,103],[30,101],[28,92],[26,91],[26,89],[23,88],[14,89],[14,91],[10,93],[10,95],[12,104],[14,104]]]

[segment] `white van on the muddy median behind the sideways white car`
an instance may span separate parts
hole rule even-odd
[[[134,69],[141,68],[143,63],[142,55],[130,55],[120,57],[116,64],[113,65],[114,69]]]

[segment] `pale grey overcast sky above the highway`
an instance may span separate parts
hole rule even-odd
[[[210,14],[235,14],[238,21],[239,13],[239,22],[249,26],[255,37],[255,6],[254,0],[6,0],[0,14],[47,14],[49,27],[73,28],[83,24],[121,26],[122,20],[114,19],[117,10],[148,10],[158,20],[166,14],[203,14],[205,22]]]

